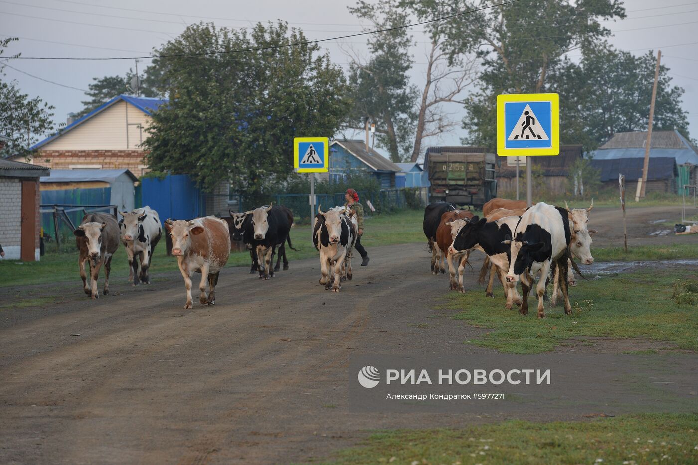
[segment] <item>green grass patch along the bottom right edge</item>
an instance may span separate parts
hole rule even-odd
[[[687,413],[378,431],[329,463],[695,464],[697,429],[698,416]]]

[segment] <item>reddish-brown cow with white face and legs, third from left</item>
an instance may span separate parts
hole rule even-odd
[[[192,308],[191,275],[201,273],[199,302],[202,305],[216,304],[218,275],[228,263],[230,256],[230,230],[225,220],[216,216],[205,216],[192,221],[165,220],[165,230],[172,237],[172,255],[177,257],[179,271],[186,286],[185,309]],[[206,292],[206,283],[209,292]]]

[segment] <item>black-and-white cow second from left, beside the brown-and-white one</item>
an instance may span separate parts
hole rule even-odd
[[[131,212],[119,213],[122,216],[119,220],[119,238],[128,257],[128,281],[133,286],[138,286],[139,280],[150,284],[148,268],[163,232],[158,212],[146,205]]]

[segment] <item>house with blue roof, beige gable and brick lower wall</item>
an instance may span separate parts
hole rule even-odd
[[[29,160],[47,168],[127,169],[147,172],[141,143],[147,137],[151,114],[167,103],[161,98],[119,95],[31,147]]]

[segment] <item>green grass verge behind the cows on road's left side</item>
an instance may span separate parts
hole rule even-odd
[[[362,244],[369,249],[376,246],[407,244],[410,242],[426,242],[422,231],[422,219],[424,212],[421,210],[404,210],[396,214],[383,214],[366,218],[366,231],[362,237]],[[313,247],[311,240],[311,228],[309,224],[296,224],[291,228],[291,242],[295,249],[286,249],[286,256],[290,262],[303,258],[314,258],[318,252]],[[41,257],[40,262],[19,262],[15,260],[0,260],[0,286],[26,286],[43,284],[47,282],[76,281],[80,282],[80,274],[77,269],[77,249],[75,240],[66,243],[67,252],[54,250],[55,244],[47,244],[47,252]],[[250,255],[247,252],[234,252],[230,254],[226,267],[249,266]],[[151,260],[151,279],[157,279],[158,274],[176,272],[177,259],[165,254],[165,242],[158,244],[154,257]],[[103,276],[103,271],[101,271]],[[114,279],[126,279],[128,277],[128,261],[124,247],[119,246],[112,259],[112,274],[110,281]]]

